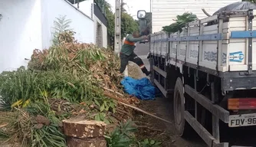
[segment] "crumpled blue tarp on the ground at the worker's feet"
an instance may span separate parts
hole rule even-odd
[[[146,77],[139,80],[132,77],[124,77],[121,83],[126,93],[136,96],[140,100],[155,99],[156,87],[153,87],[150,80]]]

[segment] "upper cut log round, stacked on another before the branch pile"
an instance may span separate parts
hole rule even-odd
[[[70,137],[85,139],[104,135],[106,123],[93,120],[66,119],[62,121],[64,134]]]

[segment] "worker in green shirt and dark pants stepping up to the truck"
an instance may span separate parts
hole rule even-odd
[[[148,38],[145,35],[141,37],[139,36],[140,36],[139,31],[133,31],[133,34],[129,34],[124,40],[123,46],[120,51],[120,60],[121,60],[120,73],[123,73],[123,71],[126,69],[126,65],[128,64],[128,62],[132,61],[140,67],[140,69],[143,71],[143,73],[146,74],[146,76],[149,76],[150,71],[146,69],[143,63],[143,60],[141,60],[141,58],[134,53],[136,42],[144,41]]]

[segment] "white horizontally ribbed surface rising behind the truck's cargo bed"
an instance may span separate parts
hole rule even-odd
[[[241,0],[152,0],[152,31],[161,31],[163,26],[172,24],[177,15],[186,11],[197,15],[199,19],[207,18],[202,8],[212,15],[219,8]]]

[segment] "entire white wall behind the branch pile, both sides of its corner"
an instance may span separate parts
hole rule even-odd
[[[0,0],[0,73],[26,66],[35,48],[51,46],[54,20],[71,19],[75,38],[95,43],[94,20],[65,0]]]

